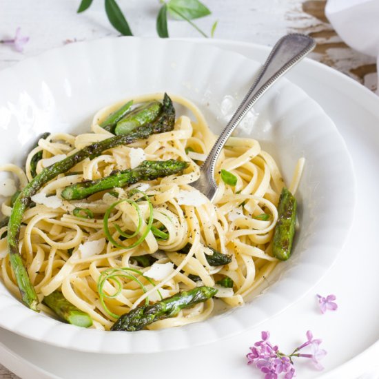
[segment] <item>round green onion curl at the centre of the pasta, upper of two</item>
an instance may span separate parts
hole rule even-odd
[[[143,241],[145,240],[147,234],[149,234],[150,230],[152,229],[152,223],[154,221],[154,217],[153,217],[153,206],[152,206],[152,202],[150,201],[150,198],[144,193],[144,192],[141,192],[139,191],[138,189],[135,189],[133,194],[135,194],[136,192],[140,192],[142,195],[143,195],[143,198],[145,198],[145,200],[147,201],[147,204],[149,205],[149,210],[150,210],[150,215],[149,215],[149,221],[147,222],[147,226],[145,227],[145,230],[143,231],[143,234],[141,235],[141,237],[136,240],[136,242],[132,243],[132,245],[129,245],[129,246],[125,246],[125,245],[121,245],[121,243],[117,242],[113,237],[112,237],[112,234],[110,234],[110,230],[109,230],[109,225],[108,225],[108,219],[110,217],[110,212],[112,212],[112,210],[114,209],[114,207],[116,207],[117,205],[119,205],[119,203],[122,203],[123,201],[127,201],[128,203],[131,203],[133,202],[136,207],[138,207],[138,205],[136,204],[135,201],[131,201],[129,199],[122,199],[120,201],[116,201],[116,203],[113,203],[105,212],[104,214],[104,221],[103,221],[103,226],[104,226],[104,233],[105,233],[105,236],[107,237],[107,240],[109,240],[114,246],[116,247],[121,247],[121,249],[132,249],[133,247],[136,247],[138,245],[140,245],[141,243],[143,243]],[[135,207],[133,205],[133,207]],[[135,208],[137,209],[137,208]],[[137,212],[139,212],[139,207],[137,209]],[[142,225],[142,216],[141,216],[141,213],[139,213],[139,225]],[[116,228],[117,232],[122,232],[121,231],[121,228],[119,227],[119,225],[114,225],[114,227]],[[127,236],[126,238],[130,238],[130,236],[136,236],[136,234],[139,233],[139,229],[141,229],[141,227],[138,227],[137,226],[137,230],[136,232],[134,232],[134,234],[121,234],[121,236],[125,237],[125,235]]]

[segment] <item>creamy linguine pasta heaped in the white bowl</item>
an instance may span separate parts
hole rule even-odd
[[[161,98],[161,94],[147,95],[134,102]],[[243,305],[278,263],[272,256],[278,199],[284,185],[278,165],[261,150],[258,141],[230,138],[218,159],[218,192],[211,203],[189,184],[198,178],[199,165],[216,136],[198,107],[179,96],[172,96],[172,100],[186,107],[192,119],[179,116],[172,132],[114,147],[92,160],[86,158],[44,185],[32,196],[35,206],[23,215],[21,256],[39,300],[60,290],[72,305],[90,315],[96,329],[109,330],[119,316],[146,301],[153,303],[200,285],[216,287],[216,298],[147,328],[205,320],[215,301],[231,307]],[[39,174],[44,167],[109,138],[112,134],[99,123],[123,103],[95,114],[90,133],[59,133],[40,139],[28,155],[25,172],[10,164],[0,170],[17,176],[22,189],[32,179],[30,163],[36,153],[42,152],[36,167]],[[61,197],[68,185],[103,178],[145,160],[168,159],[187,161],[189,166],[183,174],[116,187],[82,200]],[[221,170],[232,174],[236,184],[225,183]],[[300,160],[289,186],[292,193],[302,170]],[[1,206],[4,216],[10,216],[10,203],[8,198]],[[160,232],[154,234],[152,225]],[[7,254],[6,230],[7,226],[0,229],[1,278],[12,294],[19,296]],[[186,246],[187,254],[178,253]],[[214,254],[212,249],[229,256],[230,263],[209,265],[207,256]],[[148,256],[150,263],[141,264],[141,256]],[[225,278],[232,279],[232,287],[217,284]],[[39,307],[52,313],[42,303]]]

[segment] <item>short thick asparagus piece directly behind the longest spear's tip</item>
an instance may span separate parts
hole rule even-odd
[[[114,134],[121,136],[121,134],[129,133],[136,127],[152,123],[159,116],[161,110],[162,104],[159,101],[136,107],[117,123]]]

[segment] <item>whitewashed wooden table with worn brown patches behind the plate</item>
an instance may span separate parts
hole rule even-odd
[[[118,0],[136,36],[154,37],[158,0]],[[212,15],[196,23],[209,34],[218,20],[215,38],[273,45],[288,32],[311,35],[318,42],[311,57],[348,74],[371,90],[377,88],[375,59],[351,50],[325,18],[325,0],[203,0]],[[117,36],[105,16],[103,1],[94,0],[76,14],[80,0],[0,0],[0,39],[14,36],[17,27],[30,37],[22,53],[0,45],[0,69],[22,59],[74,41]],[[171,37],[200,37],[183,21],[169,21]],[[0,378],[17,378],[0,365]]]

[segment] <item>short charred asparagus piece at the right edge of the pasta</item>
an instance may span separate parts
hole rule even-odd
[[[274,229],[272,254],[280,259],[287,260],[291,255],[292,241],[294,240],[296,223],[296,198],[283,187],[278,205],[278,222]]]

